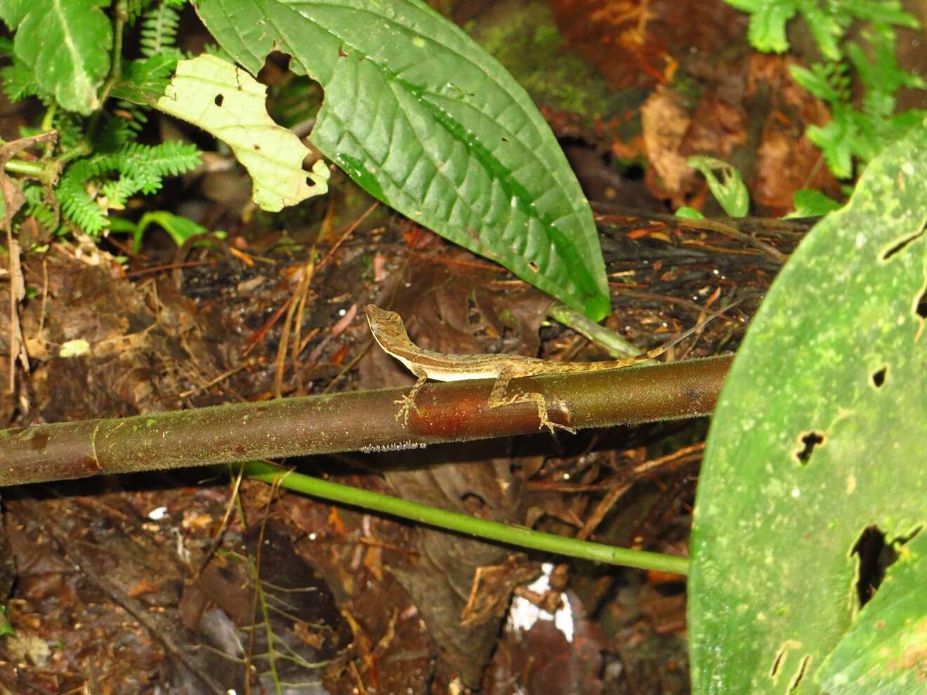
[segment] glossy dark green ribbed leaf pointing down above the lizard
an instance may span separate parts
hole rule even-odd
[[[369,193],[565,304],[610,310],[585,196],[527,93],[418,0],[200,0],[252,74],[280,50],[324,88],[310,139]]]

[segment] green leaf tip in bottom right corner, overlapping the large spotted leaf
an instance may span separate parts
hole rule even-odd
[[[875,596],[821,664],[824,692],[901,695],[927,689],[927,533],[902,546]]]

